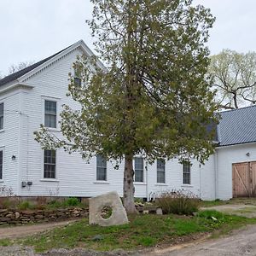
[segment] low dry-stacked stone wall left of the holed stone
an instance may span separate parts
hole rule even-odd
[[[0,225],[26,224],[59,221],[67,218],[88,217],[88,208],[68,208],[55,210],[14,210],[0,209]]]

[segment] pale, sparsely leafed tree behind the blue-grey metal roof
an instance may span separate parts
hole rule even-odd
[[[211,57],[209,72],[220,108],[240,108],[256,102],[256,53],[224,49]]]

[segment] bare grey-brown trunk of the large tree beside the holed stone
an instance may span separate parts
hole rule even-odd
[[[127,213],[137,213],[134,204],[134,185],[133,185],[133,166],[132,166],[132,156],[125,155],[125,170],[124,170],[124,188],[123,188],[123,198],[124,207]]]

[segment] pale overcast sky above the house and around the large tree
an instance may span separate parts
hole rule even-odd
[[[171,1],[171,0],[170,0]],[[195,0],[217,20],[208,46],[256,51],[255,0]],[[0,72],[20,61],[40,61],[80,39],[93,49],[90,0],[0,0]]]

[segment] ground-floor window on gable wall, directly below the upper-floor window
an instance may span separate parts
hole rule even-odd
[[[56,151],[44,150],[44,178],[55,178]]]

